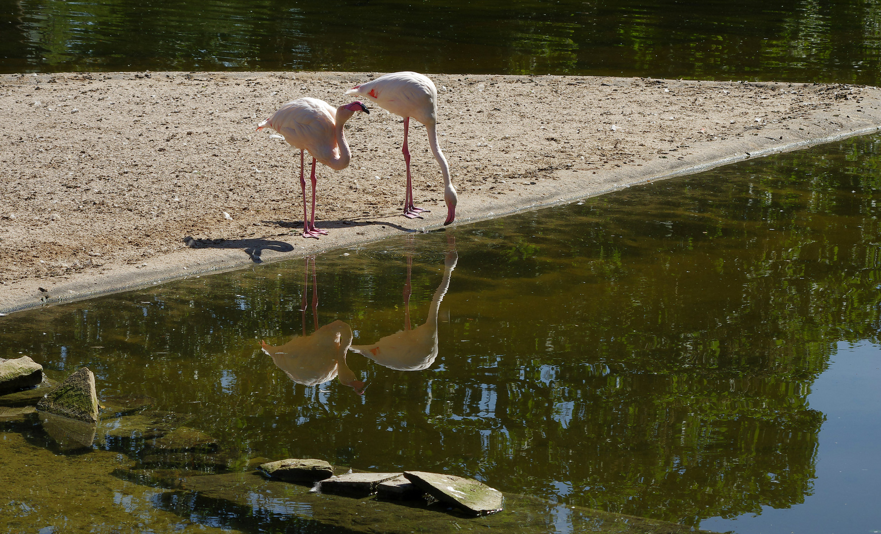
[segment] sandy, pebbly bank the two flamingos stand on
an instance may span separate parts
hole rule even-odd
[[[300,237],[299,154],[255,126],[286,101],[337,106],[378,73],[0,76],[0,313],[441,226],[439,167],[411,123],[346,124],[352,164],[319,166],[320,241]],[[881,127],[876,87],[431,75],[456,224],[795,150]],[[188,239],[189,238],[189,239]]]

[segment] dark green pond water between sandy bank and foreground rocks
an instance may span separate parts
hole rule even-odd
[[[340,250],[315,278],[298,260],[24,312],[0,357],[193,413],[233,469],[319,457],[716,530],[871,532],[879,170],[862,137]],[[434,359],[430,341],[385,366],[349,352],[303,385],[326,351],[291,376],[261,351],[316,328],[345,345],[344,323],[367,353],[403,328],[404,293],[413,331],[436,316]]]

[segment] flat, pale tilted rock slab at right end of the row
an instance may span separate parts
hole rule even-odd
[[[501,510],[501,492],[473,478],[404,471],[403,476],[422,491],[441,502],[452,504],[474,515],[487,515]]]

